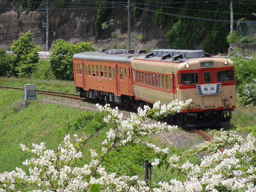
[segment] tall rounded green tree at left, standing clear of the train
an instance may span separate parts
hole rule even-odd
[[[15,76],[30,77],[36,70],[36,64],[40,59],[38,51],[40,51],[41,48],[34,42],[30,42],[33,40],[33,34],[30,30],[25,34],[22,33],[22,36],[18,40],[14,40],[11,48],[15,57],[12,60],[11,68],[15,68]]]

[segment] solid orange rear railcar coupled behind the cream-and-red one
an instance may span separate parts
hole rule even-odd
[[[141,56],[128,50],[85,52],[73,56],[74,83],[81,97],[130,106],[134,100],[131,64]]]

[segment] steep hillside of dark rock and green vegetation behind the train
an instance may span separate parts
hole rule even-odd
[[[227,52],[226,38],[230,32],[229,0],[132,0],[130,2],[132,49],[143,47],[144,49],[203,49],[214,54]],[[2,0],[2,7],[8,8],[8,11],[12,8],[12,11],[16,11],[15,17],[7,17],[6,10],[0,15],[3,20],[13,19],[11,22],[13,25],[7,25],[7,30],[0,32],[3,33],[1,34],[4,37],[3,43],[12,43],[10,39],[14,37],[10,37],[9,32],[15,36],[14,39],[17,39],[21,32],[31,30],[36,35],[36,43],[44,50],[45,28],[41,27],[41,22],[45,18],[45,13],[40,11],[45,10],[45,6],[46,2],[42,0],[29,2],[12,0],[8,4]],[[113,48],[114,44],[118,48],[128,48],[126,6],[127,1],[102,0],[91,1],[90,4],[79,0],[49,1],[51,49],[58,39],[73,43],[92,41],[97,48]],[[252,14],[256,8],[254,2],[234,0],[233,7],[234,30],[238,21],[241,25],[243,22],[255,20]],[[14,13],[10,12],[10,14]],[[248,38],[244,37],[244,39]]]

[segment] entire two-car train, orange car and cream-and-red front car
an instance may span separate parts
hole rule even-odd
[[[228,124],[236,107],[234,63],[203,50],[101,48],[74,54],[73,67],[82,98],[134,108],[192,99],[169,117],[189,127]]]

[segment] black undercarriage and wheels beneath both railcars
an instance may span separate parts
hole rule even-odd
[[[83,90],[81,87],[76,87],[77,93],[81,98],[88,98],[93,100],[102,100],[106,103],[116,103],[120,106],[128,108],[143,108],[148,105],[152,108],[153,104],[142,100],[136,100],[133,96],[121,95],[115,96],[114,93],[98,91],[98,90]],[[171,116],[172,121],[178,124],[186,125],[188,127],[202,127],[202,126],[222,126],[228,124],[232,118],[231,112],[234,109],[226,110],[205,110],[200,112],[180,112],[175,116]]]

